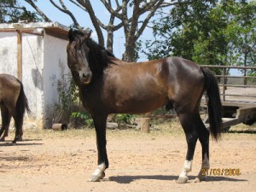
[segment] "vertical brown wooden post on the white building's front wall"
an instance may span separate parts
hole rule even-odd
[[[17,78],[22,82],[22,32],[17,30]]]

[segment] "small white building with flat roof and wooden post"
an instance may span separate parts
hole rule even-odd
[[[44,128],[59,103],[56,82],[69,73],[68,30],[56,22],[0,24],[0,73],[21,80],[32,119]]]

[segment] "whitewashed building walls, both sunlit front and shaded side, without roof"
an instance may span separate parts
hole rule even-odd
[[[39,126],[49,128],[55,103],[59,96],[55,82],[67,67],[67,41],[44,36],[22,34],[22,83],[32,110],[32,118]],[[17,77],[17,34],[0,32],[0,73]]]

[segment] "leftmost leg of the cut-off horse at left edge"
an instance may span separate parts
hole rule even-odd
[[[11,120],[11,115],[9,113],[9,110],[4,105],[1,105],[1,116],[2,116],[2,127],[0,130],[0,137],[2,136],[2,134],[3,134],[3,137],[0,138],[0,141],[4,141],[5,137],[8,137],[9,124]]]

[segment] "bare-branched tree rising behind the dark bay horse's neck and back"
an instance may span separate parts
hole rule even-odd
[[[38,8],[35,0],[25,1],[29,3],[45,21],[50,21],[49,17],[44,15],[44,12]],[[57,1],[54,0],[49,0],[49,2],[62,13],[68,15],[73,20],[73,25],[82,30],[78,20],[67,8],[67,3],[64,3],[62,0],[59,0],[59,3],[56,3]],[[136,42],[148,25],[148,21],[154,16],[156,10],[161,7],[171,6],[175,3],[173,0],[171,1],[172,3],[166,3],[164,0],[100,0],[110,14],[108,24],[104,24],[98,19],[90,0],[69,0],[68,2],[73,3],[79,9],[84,10],[85,14],[90,15],[90,20],[96,30],[99,44],[102,46],[104,46],[105,42],[102,30],[108,33],[107,49],[110,51],[113,50],[113,32],[123,27],[125,33],[125,54],[123,55],[123,59],[125,61],[136,60]]]

